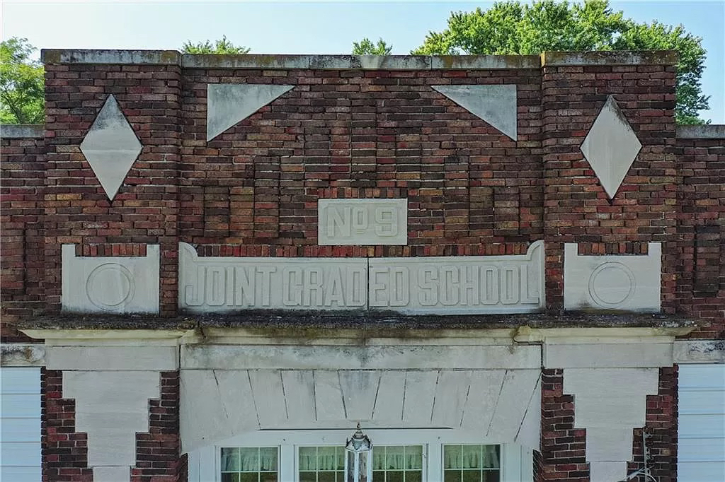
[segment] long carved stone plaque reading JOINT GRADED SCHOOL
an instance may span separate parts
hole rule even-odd
[[[179,307],[530,313],[544,308],[544,242],[525,255],[211,258],[179,246]]]

